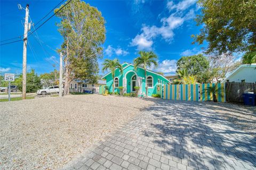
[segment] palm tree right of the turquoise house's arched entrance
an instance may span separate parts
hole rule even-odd
[[[145,51],[140,51],[139,52],[140,56],[138,58],[133,60],[134,63],[134,69],[136,70],[138,66],[141,66],[145,70],[145,83],[146,83],[146,96],[148,96],[148,87],[147,87],[147,67],[151,67],[152,64],[154,64],[155,67],[157,67],[157,55],[153,53],[152,51],[150,52],[145,52]]]

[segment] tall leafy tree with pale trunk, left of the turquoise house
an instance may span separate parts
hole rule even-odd
[[[65,94],[69,94],[73,79],[96,83],[97,60],[103,56],[102,44],[106,38],[105,20],[97,8],[80,0],[67,3],[65,7],[61,5],[62,10],[56,14],[61,19],[58,27],[64,39],[60,52],[65,64]]]

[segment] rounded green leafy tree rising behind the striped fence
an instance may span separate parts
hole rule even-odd
[[[177,73],[180,70],[186,70],[187,76],[196,76],[198,83],[208,83],[206,75],[209,70],[210,64],[205,56],[202,54],[182,56],[177,61]]]

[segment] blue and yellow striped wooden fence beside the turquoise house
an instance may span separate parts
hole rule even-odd
[[[218,86],[216,97],[218,102],[226,102],[225,84],[166,84],[163,86],[163,99],[186,100],[186,101],[208,101],[213,100],[213,94],[202,93],[207,87]],[[221,90],[223,88],[223,90]]]

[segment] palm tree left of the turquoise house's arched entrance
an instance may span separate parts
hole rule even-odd
[[[110,70],[111,74],[112,74],[112,78],[113,78],[113,95],[115,95],[115,70],[119,69],[119,71],[121,72],[121,74],[123,74],[123,67],[122,65],[119,63],[118,59],[114,59],[114,60],[109,60],[106,59],[103,63],[103,68],[102,71],[107,71]]]

